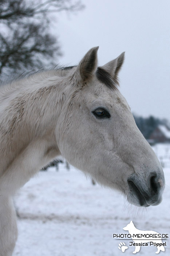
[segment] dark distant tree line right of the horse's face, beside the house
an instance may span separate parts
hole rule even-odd
[[[133,114],[137,127],[142,132],[145,139],[149,139],[151,133],[159,124],[166,125],[169,127],[168,121],[166,119],[156,118],[154,116],[150,117],[141,117]]]

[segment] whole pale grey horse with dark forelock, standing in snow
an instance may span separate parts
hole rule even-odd
[[[12,195],[58,155],[132,204],[161,202],[163,170],[118,90],[124,53],[98,67],[97,50],[0,89],[0,256],[17,239]]]

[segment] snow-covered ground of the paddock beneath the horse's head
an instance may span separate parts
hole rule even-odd
[[[170,237],[170,144],[154,146],[162,165],[166,187],[159,206],[135,207],[118,191],[92,185],[74,167],[64,164],[40,172],[14,198],[19,217],[19,236],[13,256],[119,256],[120,241],[113,234],[133,220],[142,230],[155,230]],[[133,255],[134,246],[124,255]],[[170,255],[170,240],[165,252]],[[155,246],[141,246],[138,255],[155,255]]]

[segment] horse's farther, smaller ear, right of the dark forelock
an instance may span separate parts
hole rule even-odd
[[[124,52],[122,52],[116,59],[109,61],[102,68],[104,68],[111,75],[112,78],[117,79],[120,68],[124,61]]]

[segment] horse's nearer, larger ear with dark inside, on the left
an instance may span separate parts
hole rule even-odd
[[[94,75],[98,64],[98,49],[99,46],[91,48],[78,64],[75,72],[75,78],[78,82],[85,82]]]

